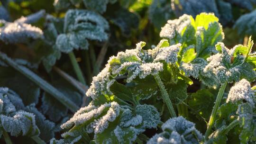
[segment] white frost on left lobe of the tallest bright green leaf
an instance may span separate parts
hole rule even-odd
[[[183,15],[178,19],[168,20],[167,24],[162,27],[160,32],[160,37],[167,37],[173,39],[176,36],[176,33],[181,33],[182,30],[191,24],[191,16]]]

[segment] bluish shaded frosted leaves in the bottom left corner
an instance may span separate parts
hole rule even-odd
[[[12,136],[39,135],[35,115],[16,109],[16,105],[22,105],[22,101],[14,98],[8,88],[0,88],[0,134],[4,130]]]

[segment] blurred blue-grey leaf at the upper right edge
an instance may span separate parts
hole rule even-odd
[[[250,36],[252,35],[255,37],[256,35],[256,10],[247,13],[245,15],[242,15],[238,20],[236,21],[233,28],[238,30],[238,34],[240,36]]]

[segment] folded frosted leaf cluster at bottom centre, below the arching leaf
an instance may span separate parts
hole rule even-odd
[[[129,143],[137,138],[146,128],[155,128],[160,122],[157,109],[150,105],[138,105],[135,114],[130,109],[121,108],[117,102],[105,103],[99,107],[90,104],[78,110],[74,116],[65,122],[62,128],[73,128],[62,134],[64,139],[52,139],[51,144],[74,144],[79,142],[82,131],[94,133],[96,144]],[[82,126],[82,127],[81,127]],[[111,126],[111,128],[109,127]],[[110,135],[109,137],[102,137]]]

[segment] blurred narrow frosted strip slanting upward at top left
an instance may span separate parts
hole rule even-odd
[[[16,19],[14,22],[17,23],[27,23],[27,24],[31,24],[31,23],[35,23],[37,22],[40,18],[43,18],[46,14],[46,10],[42,9],[34,14],[31,14],[27,17],[21,17]]]

